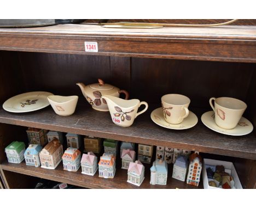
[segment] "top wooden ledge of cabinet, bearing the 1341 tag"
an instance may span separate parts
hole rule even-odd
[[[98,42],[98,52],[85,52],[85,41]],[[0,50],[255,63],[256,26],[2,28]]]

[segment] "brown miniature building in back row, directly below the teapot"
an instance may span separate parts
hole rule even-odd
[[[102,145],[102,138],[85,136],[84,137],[84,150],[86,152],[100,153]]]

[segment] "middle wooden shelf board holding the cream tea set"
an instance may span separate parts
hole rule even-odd
[[[80,97],[75,113],[69,117],[56,115],[50,106],[40,111],[16,114],[0,109],[0,122],[127,142],[256,159],[256,138],[253,133],[235,137],[214,132],[201,123],[200,118],[203,112],[197,112],[193,109],[192,111],[199,118],[195,127],[182,131],[168,130],[154,124],[150,119],[150,113],[153,109],[155,109],[155,106],[149,105],[148,111],[139,115],[131,127],[120,127],[113,124],[109,112],[95,111],[85,101],[84,97]]]

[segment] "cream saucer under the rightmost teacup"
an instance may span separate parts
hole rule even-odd
[[[208,111],[201,117],[202,123],[213,131],[232,136],[242,136],[253,131],[252,123],[246,118],[242,117],[234,129],[222,129],[215,123],[214,117],[214,111]]]

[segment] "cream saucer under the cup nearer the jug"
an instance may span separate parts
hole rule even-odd
[[[154,109],[150,117],[157,125],[174,130],[190,129],[191,127],[195,126],[198,121],[196,115],[193,112],[189,111],[188,117],[185,118],[181,124],[169,124],[165,121],[164,114],[162,113],[162,108]]]

